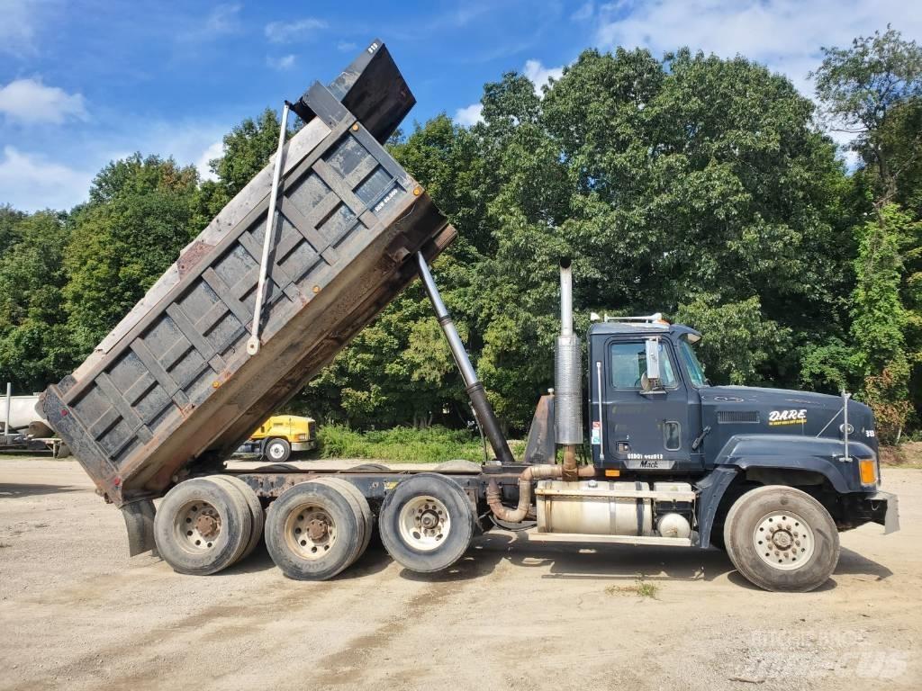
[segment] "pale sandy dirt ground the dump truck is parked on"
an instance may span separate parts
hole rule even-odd
[[[205,578],[129,560],[77,463],[4,459],[0,689],[917,689],[922,471],[884,484],[902,532],[843,534],[833,580],[806,594],[756,590],[715,550],[511,533],[449,573],[379,547],[305,583],[263,548]]]

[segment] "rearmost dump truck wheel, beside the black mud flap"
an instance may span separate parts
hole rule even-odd
[[[174,486],[154,517],[157,551],[174,571],[207,576],[243,554],[253,519],[242,494],[211,477]]]

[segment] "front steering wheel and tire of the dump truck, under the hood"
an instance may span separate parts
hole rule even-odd
[[[737,499],[727,513],[724,545],[739,573],[766,591],[812,591],[839,561],[829,511],[788,486],[759,487]]]

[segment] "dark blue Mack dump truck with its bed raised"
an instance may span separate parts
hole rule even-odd
[[[833,573],[840,531],[898,528],[867,405],[712,386],[702,334],[658,315],[597,317],[585,355],[569,259],[554,389],[536,392],[514,459],[431,275],[455,228],[382,146],[414,101],[381,41],[286,101],[266,169],[42,394],[43,416],[121,509],[129,555],[156,550],[207,575],[265,536],[286,576],[326,580],[376,530],[398,563],[428,573],[502,528],[530,542],[715,545],[764,589],[809,591]],[[305,124],[286,141],[289,111]],[[417,277],[494,458],[431,471],[226,463]]]

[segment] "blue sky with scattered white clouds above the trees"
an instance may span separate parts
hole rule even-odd
[[[0,204],[68,208],[136,150],[207,173],[231,126],[329,81],[375,37],[416,94],[408,128],[441,111],[475,122],[485,82],[517,70],[539,86],[587,47],[742,53],[810,95],[821,45],[888,22],[922,40],[922,3],[0,0]]]

